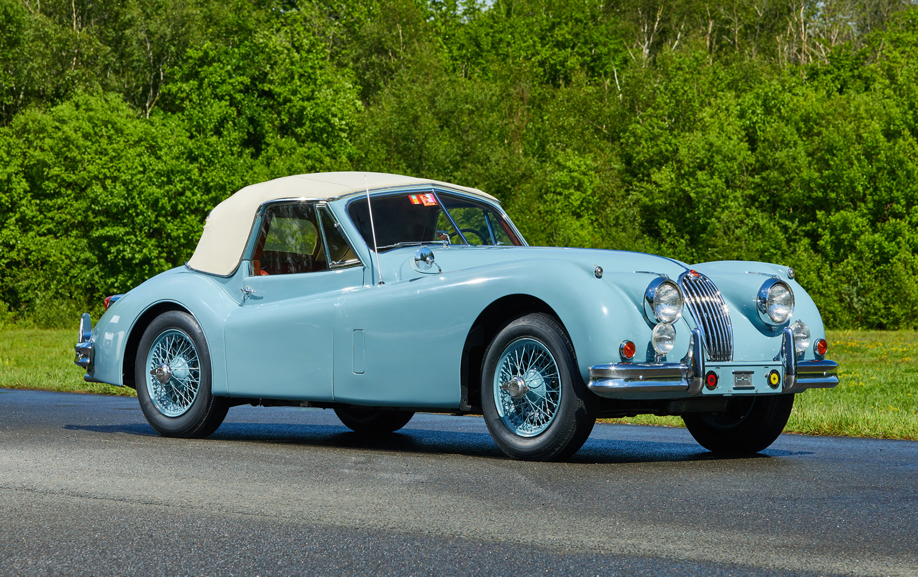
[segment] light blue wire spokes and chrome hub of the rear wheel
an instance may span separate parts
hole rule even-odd
[[[181,330],[163,331],[147,355],[147,392],[165,416],[181,416],[195,402],[201,366],[195,343]]]

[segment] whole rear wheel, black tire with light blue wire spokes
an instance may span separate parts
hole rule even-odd
[[[163,437],[205,438],[229,410],[226,398],[210,393],[207,340],[185,312],[163,313],[143,332],[134,379],[143,416]]]

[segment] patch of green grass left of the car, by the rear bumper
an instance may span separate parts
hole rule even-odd
[[[133,395],[129,387],[86,383],[73,364],[76,329],[0,329],[0,387]]]

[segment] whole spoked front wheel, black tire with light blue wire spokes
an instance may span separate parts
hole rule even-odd
[[[507,456],[564,460],[587,441],[596,413],[575,359],[564,327],[541,313],[512,321],[488,345],[481,407]]]

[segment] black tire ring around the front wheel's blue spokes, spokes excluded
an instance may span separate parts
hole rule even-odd
[[[581,390],[577,390],[580,375],[575,371],[575,357],[569,340],[561,331],[563,328],[549,316],[521,316],[501,329],[487,347],[482,365],[482,413],[491,435],[510,457],[545,460],[565,458],[579,449],[579,445],[574,450],[568,447],[571,442],[576,442],[574,439],[577,433],[582,432],[577,430],[578,426],[582,427],[583,421],[589,418],[595,421],[595,417],[589,415],[590,411],[584,401],[586,387],[581,386]],[[521,437],[511,431],[500,418],[494,399],[494,374],[498,361],[504,350],[520,338],[533,338],[552,353],[561,381],[561,402],[554,418],[548,428],[534,437]],[[589,428],[592,428],[591,424]]]

